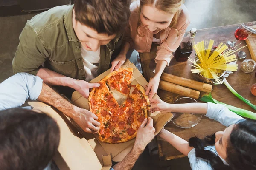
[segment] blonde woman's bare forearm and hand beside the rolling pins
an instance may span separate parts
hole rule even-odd
[[[149,96],[149,99],[152,99],[154,94],[157,93],[160,77],[163,73],[163,70],[166,68],[166,65],[167,62],[165,60],[157,61],[154,77],[149,81],[147,90],[145,92],[145,94]]]

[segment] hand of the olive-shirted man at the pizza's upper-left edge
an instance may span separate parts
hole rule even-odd
[[[84,80],[75,80],[73,88],[85,98],[89,97],[90,88],[99,87],[99,83],[88,83]]]

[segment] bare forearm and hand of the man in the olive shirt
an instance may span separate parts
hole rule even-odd
[[[76,80],[56,73],[48,68],[40,68],[37,76],[41,77],[47,85],[61,85],[73,88],[85,98],[88,98],[90,88],[99,87],[98,83],[88,83],[84,80]]]

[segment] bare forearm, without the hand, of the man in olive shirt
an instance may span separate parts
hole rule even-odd
[[[73,88],[75,85],[75,79],[66,77],[62,74],[56,73],[55,71],[49,70],[48,68],[40,68],[37,76],[44,80],[47,85],[61,85]]]

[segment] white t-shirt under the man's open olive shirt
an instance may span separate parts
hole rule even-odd
[[[84,63],[85,81],[90,82],[98,75],[100,48],[97,51],[87,51],[81,47]]]

